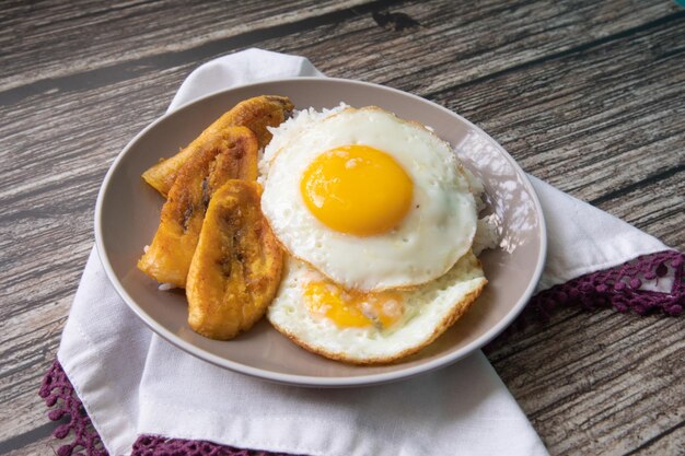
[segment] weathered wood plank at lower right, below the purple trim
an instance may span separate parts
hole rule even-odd
[[[554,454],[618,455],[684,420],[684,336],[676,318],[581,313],[488,358]]]

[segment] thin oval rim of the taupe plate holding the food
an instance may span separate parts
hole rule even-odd
[[[146,136],[150,130],[154,129],[159,124],[163,122],[167,117],[178,115],[179,112],[182,112],[183,109],[187,109],[191,105],[202,103],[208,98],[218,96],[223,93],[233,92],[236,90],[249,89],[253,86],[266,85],[266,84],[291,83],[291,82],[302,83],[302,82],[307,82],[307,81],[322,81],[322,80],[333,82],[333,83],[344,83],[344,84],[360,85],[360,86],[367,86],[367,87],[370,86],[375,90],[390,91],[402,96],[408,96],[410,98],[414,98],[418,103],[428,103],[432,105],[433,107],[437,107],[443,110],[445,114],[458,118],[461,121],[466,124],[468,127],[473,128],[479,135],[483,135],[484,137],[488,138],[490,141],[492,141],[494,144],[497,145],[499,152],[502,153],[502,155],[510,162],[510,164],[519,174],[519,177],[521,177],[524,187],[526,188],[526,190],[529,191],[533,200],[533,204],[536,209],[536,212],[539,219],[538,230],[537,230],[538,238],[539,238],[539,254],[537,257],[535,270],[533,271],[532,280],[529,282],[529,285],[524,290],[523,294],[519,297],[516,303],[513,305],[512,309],[501,320],[499,320],[496,325],[489,328],[478,339],[472,341],[471,343],[466,344],[465,347],[461,348],[454,353],[449,353],[448,355],[437,358],[427,363],[415,365],[415,366],[407,367],[404,370],[391,371],[391,372],[379,373],[379,374],[359,375],[359,376],[353,376],[353,377],[349,377],[349,376],[317,377],[317,376],[312,376],[312,375],[283,374],[283,373],[275,373],[272,371],[254,367],[251,365],[231,361],[225,358],[219,356],[217,354],[210,353],[184,340],[178,335],[174,334],[173,331],[164,328],[161,324],[156,323],[156,320],[154,320],[154,318],[152,318],[132,299],[132,296],[128,294],[128,292],[125,290],[124,285],[117,278],[117,274],[115,273],[112,267],[112,264],[109,262],[109,257],[107,255],[106,249],[104,248],[104,239],[103,239],[103,236],[104,236],[103,235],[103,222],[102,222],[102,217],[104,212],[103,202],[105,200],[107,190],[111,188],[109,184],[111,184],[111,180],[113,178],[115,171],[118,168],[124,157],[129,153],[130,149],[140,140],[140,138]],[[390,382],[397,382],[402,379],[407,379],[409,377],[414,377],[416,375],[426,374],[426,373],[436,371],[438,369],[453,364],[456,361],[466,358],[467,355],[471,355],[473,352],[480,349],[481,347],[490,342],[500,332],[502,332],[514,320],[514,318],[516,318],[516,316],[519,316],[519,314],[523,311],[523,308],[525,307],[525,304],[533,295],[535,287],[537,285],[542,277],[543,269],[545,266],[545,259],[547,256],[547,230],[546,230],[543,208],[539,202],[537,192],[535,191],[533,184],[529,179],[529,176],[523,171],[523,168],[521,168],[521,166],[513,159],[513,156],[498,141],[496,141],[486,131],[484,131],[478,126],[474,125],[468,119],[462,117],[461,115],[430,100],[420,97],[418,95],[415,95],[413,93],[405,92],[398,89],[388,87],[385,85],[375,84],[371,82],[344,79],[344,78],[294,77],[294,78],[265,79],[265,80],[259,80],[256,82],[251,82],[247,84],[234,85],[229,89],[212,91],[201,97],[183,103],[178,105],[177,107],[175,107],[173,110],[167,110],[162,116],[158,117],[152,122],[150,122],[140,132],[138,132],[138,135],[136,135],[130,141],[128,141],[128,143],[119,151],[115,160],[112,162],[97,192],[94,219],[95,219],[94,220],[95,245],[97,248],[97,255],[100,257],[100,261],[105,270],[105,273],[107,274],[107,279],[114,287],[119,297],[121,297],[121,300],[127,304],[127,306],[131,311],[133,311],[137,317],[140,318],[153,332],[158,334],[159,336],[161,336],[163,339],[171,342],[172,344],[178,347],[186,353],[193,356],[196,356],[198,359],[201,359],[204,361],[207,361],[211,364],[214,364],[219,367],[228,369],[233,372],[237,372],[241,374],[245,374],[252,377],[256,377],[256,378],[260,378],[260,379],[265,379],[269,382],[295,385],[295,386],[305,386],[305,387],[358,387],[358,386],[371,386],[371,385],[379,385],[379,384],[384,384],[384,383],[390,383]]]

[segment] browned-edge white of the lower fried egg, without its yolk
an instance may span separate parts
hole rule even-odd
[[[469,252],[444,276],[411,291],[403,291],[404,315],[385,330],[340,328],[313,314],[303,294],[317,273],[291,259],[267,318],[306,350],[356,364],[396,361],[419,351],[444,332],[478,297],[487,283],[480,262]]]

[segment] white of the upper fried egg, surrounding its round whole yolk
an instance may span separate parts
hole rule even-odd
[[[379,291],[434,280],[471,248],[476,202],[446,142],[376,107],[345,108],[304,121],[289,122],[281,135],[275,130],[279,150],[267,151],[270,161],[262,177],[262,209],[292,256],[344,288]],[[364,237],[336,232],[304,203],[300,180],[306,167],[320,154],[349,144],[391,154],[413,180],[410,210],[391,232]]]

